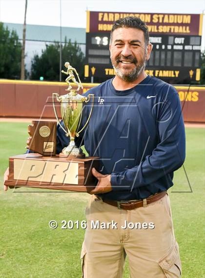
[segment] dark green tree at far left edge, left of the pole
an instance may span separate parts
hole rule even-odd
[[[21,74],[21,43],[16,31],[9,31],[0,22],[0,78],[19,79]]]

